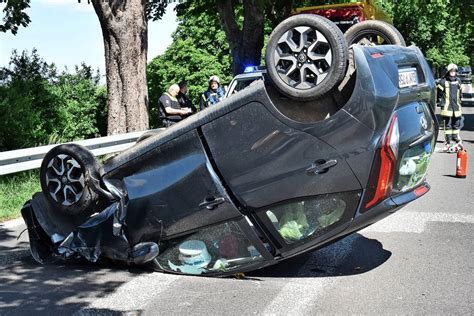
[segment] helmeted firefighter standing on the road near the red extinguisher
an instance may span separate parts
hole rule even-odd
[[[444,151],[454,152],[462,146],[459,131],[463,125],[461,108],[461,80],[457,76],[458,66],[449,64],[447,73],[437,85],[441,92],[441,117],[444,125]]]

